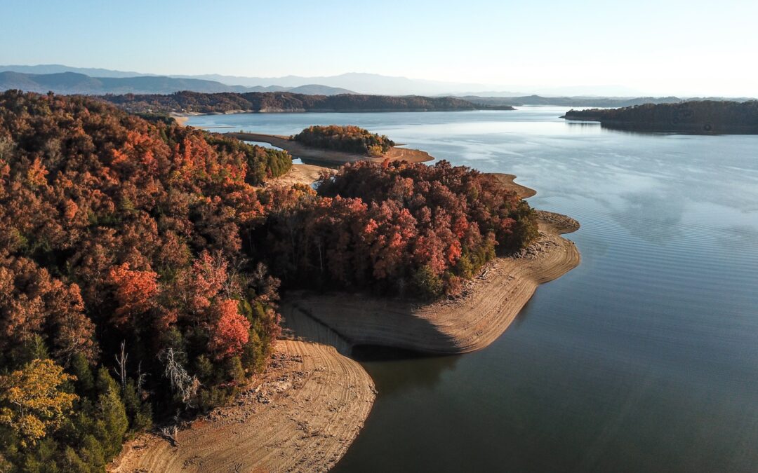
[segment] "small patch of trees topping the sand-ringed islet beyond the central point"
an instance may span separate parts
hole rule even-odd
[[[385,135],[377,135],[359,126],[309,126],[292,139],[314,148],[346,151],[378,157],[395,145]]]

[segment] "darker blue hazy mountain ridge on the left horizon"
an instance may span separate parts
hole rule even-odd
[[[228,86],[221,82],[203,79],[180,79],[167,76],[90,77],[82,73],[62,72],[30,74],[0,72],[0,90],[21,89],[28,92],[55,92],[58,94],[171,94],[183,90],[193,92],[296,92],[309,95],[350,94],[347,89],[309,84],[296,88],[249,88]],[[258,90],[261,89],[261,90]]]

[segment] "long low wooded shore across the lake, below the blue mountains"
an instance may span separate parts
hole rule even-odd
[[[408,95],[302,95],[290,92],[226,92],[202,94],[177,92],[171,95],[102,95],[130,112],[223,114],[244,110],[249,112],[362,112],[362,111],[424,111],[475,110],[471,102],[451,97],[419,97]]]

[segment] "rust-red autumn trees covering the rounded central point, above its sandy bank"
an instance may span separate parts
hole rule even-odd
[[[287,287],[456,295],[488,260],[537,236],[534,210],[465,166],[347,164],[311,188],[271,189],[257,254]]]

